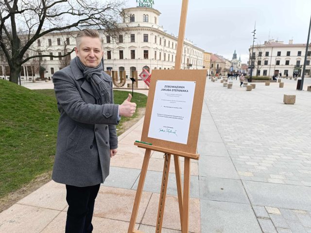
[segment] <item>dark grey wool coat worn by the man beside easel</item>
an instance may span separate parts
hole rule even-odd
[[[104,73],[104,71],[103,71]],[[53,75],[57,107],[60,112],[52,180],[85,187],[103,183],[109,175],[110,149],[118,147],[116,125],[119,106],[113,102],[95,104],[90,83],[75,59]]]

